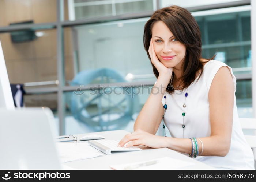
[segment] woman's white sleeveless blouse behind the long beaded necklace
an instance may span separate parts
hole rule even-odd
[[[184,110],[184,138],[200,138],[209,137],[211,135],[208,93],[215,74],[222,66],[227,66],[227,64],[217,60],[210,60],[204,65],[204,71],[200,79],[198,79],[198,76],[183,92],[181,90],[175,90],[173,94],[168,94],[166,92],[166,104],[168,107],[165,113],[164,122],[170,131],[171,137],[183,138],[182,112],[186,92],[188,92],[188,96],[186,98],[186,107]],[[236,78],[232,72],[232,68],[229,66],[227,67],[233,77],[235,88],[233,128],[229,153],[225,157],[198,156],[194,159],[218,169],[254,169],[253,152],[245,140],[237,113],[235,96]],[[165,99],[163,98],[162,104],[164,103]]]

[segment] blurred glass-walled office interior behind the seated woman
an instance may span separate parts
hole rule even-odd
[[[10,83],[22,87],[20,106],[49,107],[60,135],[133,131],[156,81],[144,24],[169,5],[192,12],[203,58],[217,54],[233,68],[238,115],[252,118],[248,0],[0,0],[0,40]]]

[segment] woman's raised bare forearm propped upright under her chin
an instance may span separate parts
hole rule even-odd
[[[135,121],[134,130],[141,129],[151,134],[155,134],[160,124],[159,121],[161,122],[163,115],[163,105],[161,100],[169,81],[169,77],[158,77],[157,83],[154,85],[150,96]]]

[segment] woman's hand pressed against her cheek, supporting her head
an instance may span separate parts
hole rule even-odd
[[[168,75],[171,78],[173,68],[167,68],[165,65],[163,65],[163,63],[161,63],[158,60],[157,55],[155,54],[154,44],[153,44],[152,38],[150,39],[150,45],[149,45],[149,48],[148,48],[148,53],[149,53],[150,58],[151,58],[151,63],[155,66],[155,68],[157,68],[159,76],[160,75],[165,75],[165,76]]]

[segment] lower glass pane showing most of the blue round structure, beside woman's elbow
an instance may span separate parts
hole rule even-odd
[[[134,121],[152,86],[107,86],[65,93],[66,133],[133,131]]]

